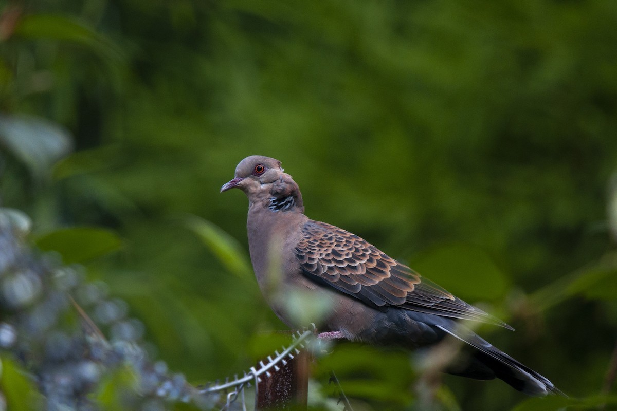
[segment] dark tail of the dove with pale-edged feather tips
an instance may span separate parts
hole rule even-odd
[[[549,393],[563,395],[548,378],[508,356],[470,330],[462,327],[458,327],[456,330],[449,330],[442,326],[437,327],[458,338],[458,340],[470,344],[477,350],[474,350],[465,366],[455,367],[455,369],[449,370],[449,373],[478,380],[499,378],[514,389],[529,396],[545,396]]]

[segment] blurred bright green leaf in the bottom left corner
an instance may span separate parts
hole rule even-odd
[[[25,373],[6,357],[0,357],[0,392],[6,399],[7,410],[30,411],[35,407],[40,398],[36,398],[38,392],[33,381],[27,378]]]

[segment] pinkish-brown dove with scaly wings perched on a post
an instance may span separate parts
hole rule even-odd
[[[302,193],[274,158],[240,161],[221,192],[242,190],[249,199],[247,234],[255,277],[275,314],[297,328],[281,296],[301,291],[325,298],[329,311],[313,320],[320,332],[350,341],[421,349],[452,336],[470,356],[445,372],[499,378],[529,396],[561,394],[551,381],[492,346],[462,320],[509,325],[421,277],[366,240],[304,214]]]

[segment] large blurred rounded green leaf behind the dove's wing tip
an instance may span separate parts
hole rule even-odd
[[[445,245],[429,250],[413,261],[413,269],[466,301],[494,301],[510,285],[488,254],[471,245]]]

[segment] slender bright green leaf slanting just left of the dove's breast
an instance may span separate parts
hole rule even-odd
[[[196,216],[187,218],[186,225],[199,235],[202,242],[217,256],[228,271],[241,278],[251,277],[253,272],[251,264],[235,238],[212,222]]]

